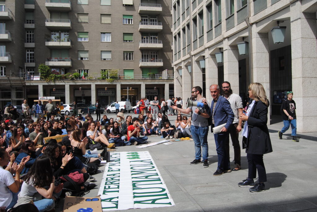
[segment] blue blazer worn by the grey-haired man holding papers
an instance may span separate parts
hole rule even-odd
[[[232,112],[230,102],[226,98],[219,96],[214,111],[212,111],[213,106],[214,106],[214,100],[211,101],[210,110],[209,110],[211,121],[212,121],[212,113],[213,113],[215,126],[219,126],[224,123],[227,123],[224,127],[227,130],[229,130],[229,127],[230,125],[232,125],[232,122],[235,116]],[[211,128],[211,132],[212,132],[212,128]]]

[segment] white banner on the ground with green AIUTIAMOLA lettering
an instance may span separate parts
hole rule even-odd
[[[175,206],[148,151],[111,153],[99,193],[103,211]]]

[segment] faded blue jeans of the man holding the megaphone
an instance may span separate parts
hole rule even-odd
[[[208,129],[209,127],[197,127],[191,125],[191,135],[195,143],[195,159],[201,159],[201,149],[203,149],[203,160],[208,159]]]

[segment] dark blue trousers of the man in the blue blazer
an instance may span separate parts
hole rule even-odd
[[[214,134],[216,142],[216,151],[218,155],[218,168],[223,171],[230,170],[230,161],[228,152],[226,151],[226,141],[229,140],[229,132],[223,132],[221,134]],[[229,146],[229,142],[227,144]]]

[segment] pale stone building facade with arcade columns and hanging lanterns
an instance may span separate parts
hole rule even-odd
[[[175,96],[201,86],[211,100],[209,86],[225,80],[246,100],[259,82],[271,117],[291,90],[297,131],[315,132],[316,11],[316,0],[173,0]]]

